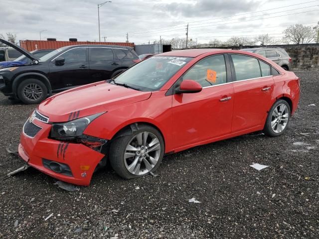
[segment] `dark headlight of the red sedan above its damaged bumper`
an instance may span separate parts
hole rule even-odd
[[[95,114],[92,116],[83,117],[80,119],[74,119],[65,123],[53,123],[50,136],[52,138],[67,140],[74,139],[81,136],[86,127],[96,118],[103,113]]]

